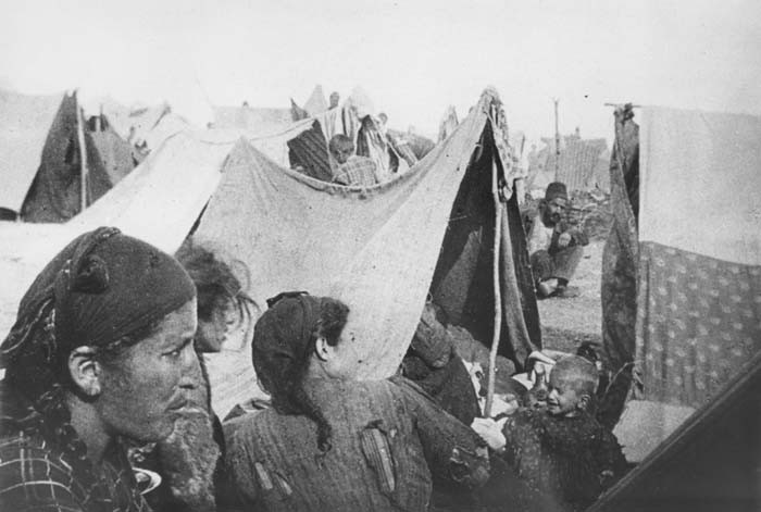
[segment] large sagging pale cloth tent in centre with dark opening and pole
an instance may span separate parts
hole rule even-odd
[[[510,183],[492,135],[496,101],[494,93],[485,93],[428,157],[367,189],[312,179],[239,142],[195,237],[248,265],[247,291],[261,304],[294,289],[344,299],[351,308],[347,333],[358,341],[351,365],[360,378],[396,371],[428,294],[450,323],[490,345],[492,172],[499,172],[500,183],[504,177]],[[540,337],[514,198],[502,209],[502,226],[500,348],[520,366],[540,347]],[[254,377],[246,350],[233,361],[215,359],[209,365],[213,388],[225,386],[220,374],[238,375],[224,392],[212,392],[224,414],[250,396]],[[241,360],[248,366],[247,380]]]

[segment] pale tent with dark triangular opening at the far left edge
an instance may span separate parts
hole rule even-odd
[[[28,222],[65,222],[82,208],[79,125],[76,93],[33,97],[0,91],[0,172],[4,216]],[[84,129],[86,203],[114,184],[91,134]]]

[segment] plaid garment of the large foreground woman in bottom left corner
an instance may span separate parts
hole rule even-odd
[[[48,436],[51,427],[46,420],[5,382],[0,383],[0,510],[150,510],[121,444],[112,444],[100,469],[77,471],[89,464],[86,454],[74,453]]]

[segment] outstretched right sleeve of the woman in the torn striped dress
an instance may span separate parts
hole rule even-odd
[[[412,412],[431,472],[469,488],[484,485],[489,478],[489,455],[481,436],[444,411],[414,383],[403,377],[392,382]]]

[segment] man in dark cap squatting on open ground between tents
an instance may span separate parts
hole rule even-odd
[[[528,254],[539,298],[565,291],[584,255],[582,246],[589,243],[582,229],[563,221],[567,201],[565,184],[549,184],[528,232]]]

